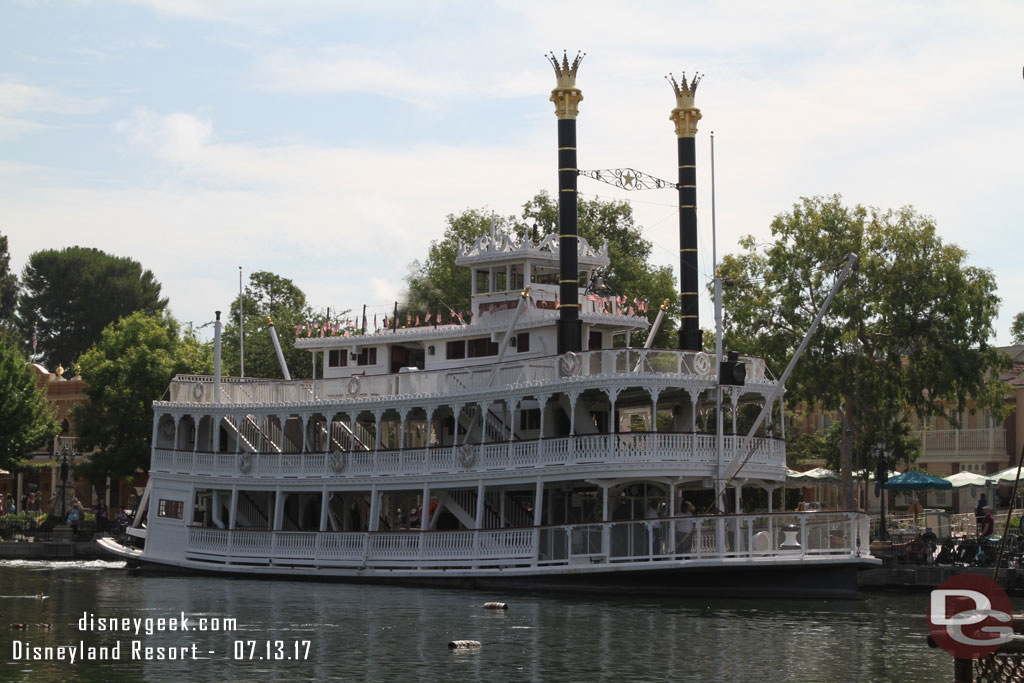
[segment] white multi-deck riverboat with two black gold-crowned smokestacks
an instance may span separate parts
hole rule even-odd
[[[579,60],[553,62],[564,114]],[[567,120],[559,185],[574,200]],[[783,426],[736,433],[744,405],[781,412],[779,382],[758,357],[705,352],[694,309],[688,348],[635,346],[652,325],[589,286],[607,246],[577,234],[574,205],[560,236],[493,227],[460,245],[468,322],[321,328],[296,341],[311,379],[175,377],[154,403],[132,542],[101,543],[132,565],[253,577],[854,595],[878,563],[867,517],[774,511]],[[755,488],[766,509],[744,512]]]

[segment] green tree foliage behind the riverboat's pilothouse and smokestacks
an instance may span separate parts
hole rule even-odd
[[[679,295],[672,268],[647,263],[652,245],[634,222],[632,207],[626,202],[581,199],[578,210],[580,234],[595,247],[605,241],[608,243],[611,265],[602,273],[607,286],[602,294],[647,299],[651,304],[648,316],[652,322],[658,306],[669,299],[670,314],[666,315],[655,337],[655,346],[674,346]],[[487,234],[490,220],[489,213],[478,209],[449,215],[444,237],[431,243],[422,262],[412,264],[412,272],[407,279],[409,310],[433,313],[446,312],[449,308],[469,309],[470,271],[455,264],[459,241],[468,245]],[[519,216],[495,217],[495,220],[501,229],[517,240],[532,237],[535,230],[537,239],[541,240],[558,233],[558,203],[542,191],[523,205]]]

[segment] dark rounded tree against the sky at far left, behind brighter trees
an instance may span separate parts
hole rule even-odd
[[[36,252],[25,266],[22,285],[22,334],[31,339],[38,327],[39,352],[47,367],[75,362],[111,323],[136,310],[154,314],[167,306],[152,271],[130,258],[86,247]]]

